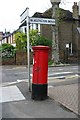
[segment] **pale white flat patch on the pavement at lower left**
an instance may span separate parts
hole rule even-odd
[[[0,103],[25,100],[17,86],[0,87]]]

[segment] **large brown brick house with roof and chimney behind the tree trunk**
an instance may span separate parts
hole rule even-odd
[[[61,62],[65,62],[67,44],[69,45],[68,57],[70,59],[77,59],[79,57],[78,53],[80,53],[80,34],[77,30],[77,27],[80,27],[80,16],[79,6],[76,2],[74,2],[72,9],[73,12],[61,8],[58,9],[59,58]],[[36,12],[33,17],[52,18],[52,8],[44,13]],[[40,25],[40,33],[52,39],[52,26]]]

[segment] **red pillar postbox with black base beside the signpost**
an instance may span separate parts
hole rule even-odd
[[[48,46],[34,46],[33,49],[33,78],[32,99],[47,98],[48,78]]]

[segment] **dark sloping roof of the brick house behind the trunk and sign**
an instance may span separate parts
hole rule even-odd
[[[80,21],[80,19],[74,19],[72,12],[70,12],[69,10],[64,10],[62,8],[59,8],[58,10],[59,10],[58,11],[58,18],[59,19],[63,19],[64,21],[73,21],[73,20]],[[51,19],[52,18],[52,8],[49,8],[44,13],[35,12],[32,17],[50,18]],[[22,26],[26,26],[26,22],[22,23],[19,27],[22,27]]]

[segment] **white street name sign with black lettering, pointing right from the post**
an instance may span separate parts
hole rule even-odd
[[[55,25],[55,19],[47,19],[47,18],[34,18],[34,17],[31,17],[29,22],[32,23],[32,24]]]

